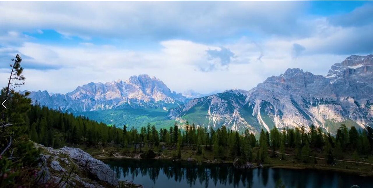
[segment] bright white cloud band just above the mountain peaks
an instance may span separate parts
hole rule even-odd
[[[22,89],[66,93],[89,82],[126,80],[132,75],[146,73],[163,80],[170,89],[177,92],[188,89],[201,93],[234,88],[248,90],[269,76],[283,73],[287,68],[299,67],[305,71],[326,74],[333,63],[345,58],[335,55],[301,55],[294,59],[291,54],[292,41],[276,40],[262,44],[266,51],[262,60],[258,61],[261,49],[254,42],[240,40],[226,45],[235,54],[228,69],[217,68],[203,72],[200,67],[211,63],[207,50],[220,50],[220,47],[183,40],[162,41],[160,44],[162,49],[159,51],[128,51],[98,45],[59,47],[26,42],[17,49],[31,58],[23,62],[24,66],[39,63],[60,68],[25,69],[27,80]],[[1,73],[2,77],[6,75],[6,72]]]

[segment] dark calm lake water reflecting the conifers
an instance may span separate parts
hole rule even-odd
[[[275,188],[281,179],[291,188],[373,188],[372,177],[313,169],[235,169],[230,164],[196,165],[157,159],[104,160],[120,180],[142,184],[144,188]],[[356,187],[357,188],[357,187]]]

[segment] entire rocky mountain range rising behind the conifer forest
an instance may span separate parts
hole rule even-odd
[[[226,90],[207,96],[171,92],[159,79],[142,74],[126,81],[89,83],[65,95],[38,91],[29,97],[40,105],[106,123],[130,122],[123,113],[142,110],[147,112],[141,117],[157,111],[159,118],[152,116],[144,121],[156,120],[158,125],[174,121],[183,125],[188,121],[209,128],[225,125],[231,130],[248,128],[258,133],[275,125],[285,128],[314,124],[334,133],[342,123],[361,128],[373,125],[373,55],[352,55],[334,64],[326,76],[289,68],[251,90]],[[108,114],[116,114],[116,118]]]

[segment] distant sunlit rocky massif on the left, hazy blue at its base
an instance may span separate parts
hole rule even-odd
[[[26,91],[24,91],[26,92]],[[171,90],[156,77],[147,74],[131,76],[128,80],[107,83],[88,83],[73,92],[50,95],[47,91],[30,92],[33,103],[52,109],[84,112],[120,108],[154,108],[177,106],[186,102],[181,93]]]

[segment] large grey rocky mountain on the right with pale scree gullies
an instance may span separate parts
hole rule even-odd
[[[314,124],[334,133],[341,123],[373,126],[373,55],[352,55],[327,76],[299,68],[267,78],[257,87],[227,90],[171,109],[169,117],[204,127],[258,132]]]

